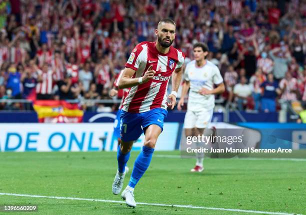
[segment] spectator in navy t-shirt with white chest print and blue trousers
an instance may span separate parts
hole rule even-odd
[[[273,74],[269,73],[267,75],[267,80],[260,86],[263,88],[261,96],[261,110],[264,112],[276,111],[275,98],[277,94],[280,94],[280,89],[278,88],[277,81],[274,80]]]

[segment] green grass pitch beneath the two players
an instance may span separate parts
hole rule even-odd
[[[137,154],[131,153],[124,187]],[[135,187],[136,202],[306,214],[306,161],[205,159],[205,170],[191,173],[194,159],[162,154],[179,155],[179,151],[154,152]],[[116,166],[115,152],[3,152],[0,193],[121,201],[111,192]],[[120,202],[2,194],[0,205],[4,204],[38,205],[37,212],[24,214],[256,214],[142,204],[128,208]]]

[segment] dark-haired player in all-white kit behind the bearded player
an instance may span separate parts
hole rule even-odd
[[[223,78],[216,65],[205,59],[208,47],[204,43],[193,45],[194,60],[185,68],[184,83],[177,109],[181,110],[184,96],[190,88],[187,111],[184,119],[185,136],[202,135],[211,121],[214,95],[224,92]],[[213,88],[213,84],[217,87]],[[203,170],[203,158],[197,154],[196,164],[191,171]]]

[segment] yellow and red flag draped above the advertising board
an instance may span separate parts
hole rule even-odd
[[[83,110],[77,103],[64,100],[35,100],[33,104],[39,122],[82,122]]]

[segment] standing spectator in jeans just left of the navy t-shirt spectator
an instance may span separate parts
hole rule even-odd
[[[249,84],[252,88],[252,97],[255,102],[254,109],[259,110],[260,98],[261,98],[261,87],[260,85],[266,80],[265,75],[262,73],[260,68],[257,69],[249,79]]]

